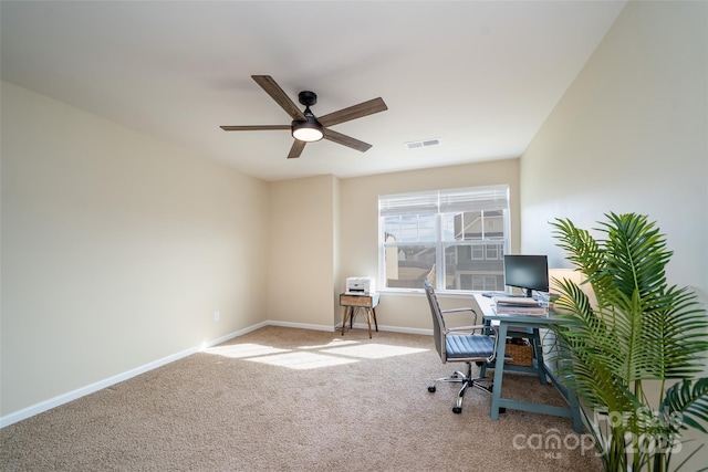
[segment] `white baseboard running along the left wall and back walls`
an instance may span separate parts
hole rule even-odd
[[[268,321],[268,322],[262,322],[262,323],[258,323],[256,325],[249,326],[247,328],[240,329],[238,332],[235,333],[230,333],[226,336],[221,336],[217,339],[212,339],[209,342],[205,342],[202,343],[200,346],[196,346],[196,347],[190,347],[189,349],[185,349],[181,350],[179,353],[173,354],[170,356],[167,357],[163,357],[162,359],[157,359],[154,360],[152,363],[145,364],[143,366],[136,367],[134,369],[131,370],[126,370],[125,373],[115,375],[113,377],[108,377],[106,379],[96,381],[94,384],[77,388],[75,390],[72,390],[70,392],[66,394],[62,394],[59,395],[54,398],[51,398],[49,400],[45,401],[41,401],[39,403],[32,405],[30,407],[23,408],[19,411],[14,411],[12,413],[6,415],[4,417],[0,417],[0,429],[4,428],[7,426],[10,426],[12,423],[15,423],[18,421],[22,421],[25,420],[30,417],[33,417],[35,415],[39,415],[41,412],[44,412],[46,410],[51,410],[52,408],[56,408],[61,405],[64,403],[69,403],[70,401],[76,400],[77,398],[84,397],[88,394],[93,394],[95,391],[102,390],[106,387],[111,387],[112,385],[118,384],[121,381],[127,380],[129,378],[133,378],[135,376],[138,376],[140,374],[144,374],[146,371],[156,369],[158,367],[162,367],[166,364],[169,363],[174,363],[175,360],[179,360],[184,357],[190,356],[192,354],[199,353],[200,350],[204,350],[206,348],[209,348],[211,346],[216,346],[218,344],[221,343],[226,343],[227,340],[233,339],[235,337],[239,337],[239,336],[243,336],[247,333],[250,333],[252,331],[256,329],[260,329],[263,326],[283,326],[283,327],[291,327],[291,328],[301,328],[301,329],[314,329],[314,331],[327,331],[327,332],[335,332],[342,328],[342,324],[340,323],[339,327],[333,327],[333,326],[325,326],[325,325],[311,325],[311,324],[304,324],[304,323],[290,323],[290,322],[274,322],[274,321]],[[362,328],[362,329],[367,329],[368,326],[366,324],[360,324],[360,323],[355,323],[354,324],[355,328]],[[397,326],[379,326],[378,327],[379,331],[389,331],[389,332],[397,332],[397,333],[408,333],[408,334],[426,334],[426,335],[430,335],[433,333],[431,329],[412,329],[412,328],[399,328]]]

